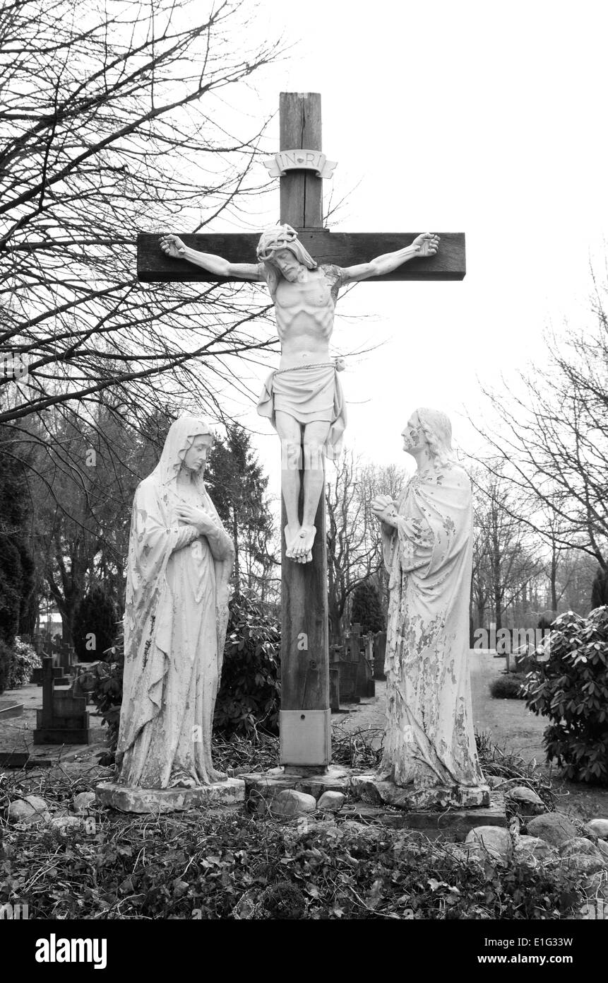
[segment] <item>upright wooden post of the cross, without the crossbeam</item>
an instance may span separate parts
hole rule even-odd
[[[321,96],[281,92],[281,150],[321,149]],[[321,229],[322,180],[310,171],[281,178],[281,221],[296,230]],[[300,518],[304,471],[300,473]],[[314,520],[312,562],[295,563],[285,555],[281,535],[281,764],[318,770],[331,761],[329,639],[325,484]],[[287,525],[282,500],[281,530]]]

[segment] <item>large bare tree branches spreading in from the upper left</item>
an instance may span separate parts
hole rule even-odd
[[[248,42],[254,16],[249,0],[0,9],[0,422],[59,403],[85,418],[108,388],[137,421],[159,386],[217,415],[230,359],[274,346],[262,291],[136,272],[138,231],[235,220],[263,191],[266,121],[227,105],[280,54]]]

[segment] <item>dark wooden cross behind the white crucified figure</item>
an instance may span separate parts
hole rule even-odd
[[[281,92],[280,150],[321,150],[321,97],[315,92]],[[320,155],[319,155],[320,156]],[[299,159],[299,158],[297,158]],[[310,156],[313,159],[313,156]],[[322,179],[311,170],[290,170],[280,178],[281,222],[298,232],[317,263],[354,266],[396,252],[417,233],[329,232],[323,228]],[[187,246],[232,262],[254,262],[259,235],[183,235]],[[374,280],[462,280],[465,276],[464,233],[441,232],[439,252],[424,260],[409,260]],[[144,282],[237,280],[207,272],[190,262],[176,262],[159,247],[158,235],[138,235],[138,279]],[[302,516],[304,475],[301,475]],[[281,529],[287,524],[282,505]],[[331,761],[329,709],[329,651],[327,614],[327,548],[325,494],[321,493],[314,521],[316,537],[312,562],[281,561],[281,763],[286,771],[324,768]]]

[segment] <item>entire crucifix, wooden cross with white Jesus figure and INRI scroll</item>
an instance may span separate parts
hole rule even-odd
[[[138,279],[265,280],[270,290],[282,358],[258,412],[282,448],[281,763],[318,771],[331,761],[324,459],[339,453],[346,423],[329,357],[338,290],[359,280],[461,280],[465,236],[324,229],[322,180],[335,164],[321,152],[318,93],[281,93],[280,150],[266,166],[280,177],[280,226],[261,238],[139,234]]]

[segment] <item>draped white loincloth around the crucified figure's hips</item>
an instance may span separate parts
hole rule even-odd
[[[330,424],[325,452],[330,460],[340,456],[346,427],[344,393],[335,364],[279,369],[270,373],[257,402],[260,417],[268,417],[276,430],[276,412],[289,413],[301,424]]]

